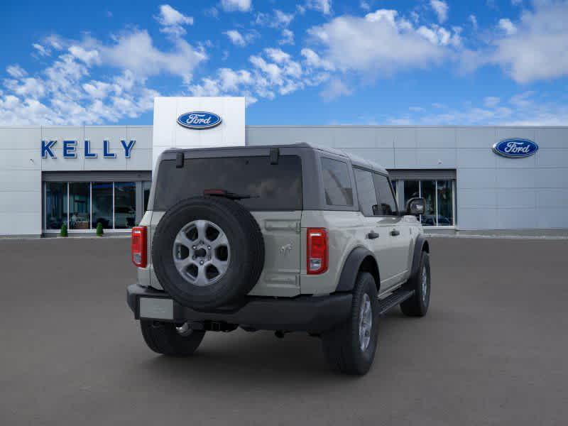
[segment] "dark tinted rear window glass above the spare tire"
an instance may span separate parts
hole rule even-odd
[[[301,210],[302,160],[280,155],[278,164],[268,156],[186,158],[183,168],[163,160],[155,187],[155,210],[165,210],[204,190],[225,190],[252,198],[237,200],[249,210]]]

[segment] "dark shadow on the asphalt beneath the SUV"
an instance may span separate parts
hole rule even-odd
[[[179,383],[208,381],[263,386],[278,380],[286,386],[317,379],[321,386],[326,381],[334,384],[356,379],[330,371],[321,340],[305,333],[286,334],[284,339],[277,339],[272,332],[238,330],[228,335],[209,334],[212,336],[206,335],[200,349],[191,357],[151,356],[143,361],[142,367],[151,376],[167,376]]]

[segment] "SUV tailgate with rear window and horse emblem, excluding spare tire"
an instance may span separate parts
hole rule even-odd
[[[205,157],[209,151],[188,153],[182,168],[175,160],[163,160],[158,169],[158,209],[204,190],[224,190],[242,196],[236,200],[258,222],[265,247],[263,272],[251,295],[295,296],[300,294],[300,220],[302,219],[302,159],[235,151],[225,157]],[[241,155],[239,155],[241,154]],[[202,156],[203,155],[203,156]],[[156,212],[154,212],[155,214]],[[258,261],[261,261],[259,259]]]

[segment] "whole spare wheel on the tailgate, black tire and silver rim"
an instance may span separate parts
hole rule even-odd
[[[264,239],[252,214],[222,197],[192,197],[165,212],[152,263],[173,300],[196,310],[240,305],[261,276]]]

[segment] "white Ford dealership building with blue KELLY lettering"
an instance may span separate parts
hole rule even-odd
[[[383,165],[400,207],[425,198],[432,232],[568,234],[568,126],[246,126],[245,114],[242,97],[171,97],[155,99],[153,126],[0,126],[0,236],[124,233],[165,149],[286,143]]]

